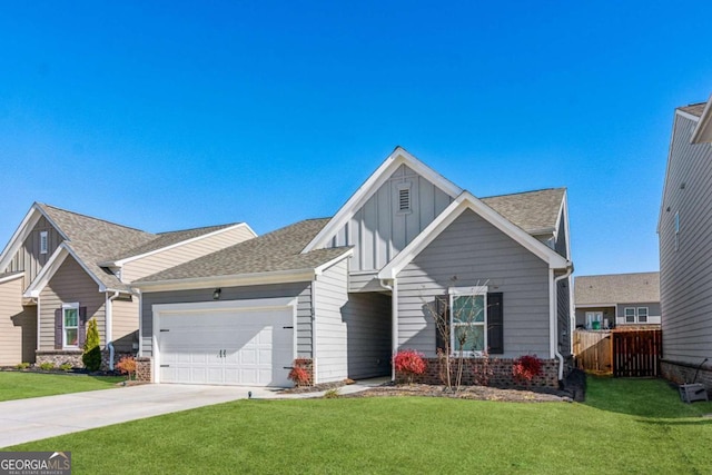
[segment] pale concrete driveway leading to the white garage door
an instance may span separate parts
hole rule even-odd
[[[264,387],[141,385],[0,403],[0,448],[95,427],[253,397]],[[48,449],[52,449],[48,447]],[[58,449],[61,449],[59,447]]]

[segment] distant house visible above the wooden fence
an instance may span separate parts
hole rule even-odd
[[[660,273],[577,276],[576,328],[660,327]]]

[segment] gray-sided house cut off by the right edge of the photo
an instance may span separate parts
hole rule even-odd
[[[657,235],[665,377],[712,389],[712,97],[675,110]]]

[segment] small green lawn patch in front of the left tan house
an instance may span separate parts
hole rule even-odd
[[[0,372],[0,400],[108,389],[125,377]]]

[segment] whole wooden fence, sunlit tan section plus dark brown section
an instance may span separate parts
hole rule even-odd
[[[574,356],[580,369],[616,377],[660,375],[662,330],[625,329],[574,333]]]

